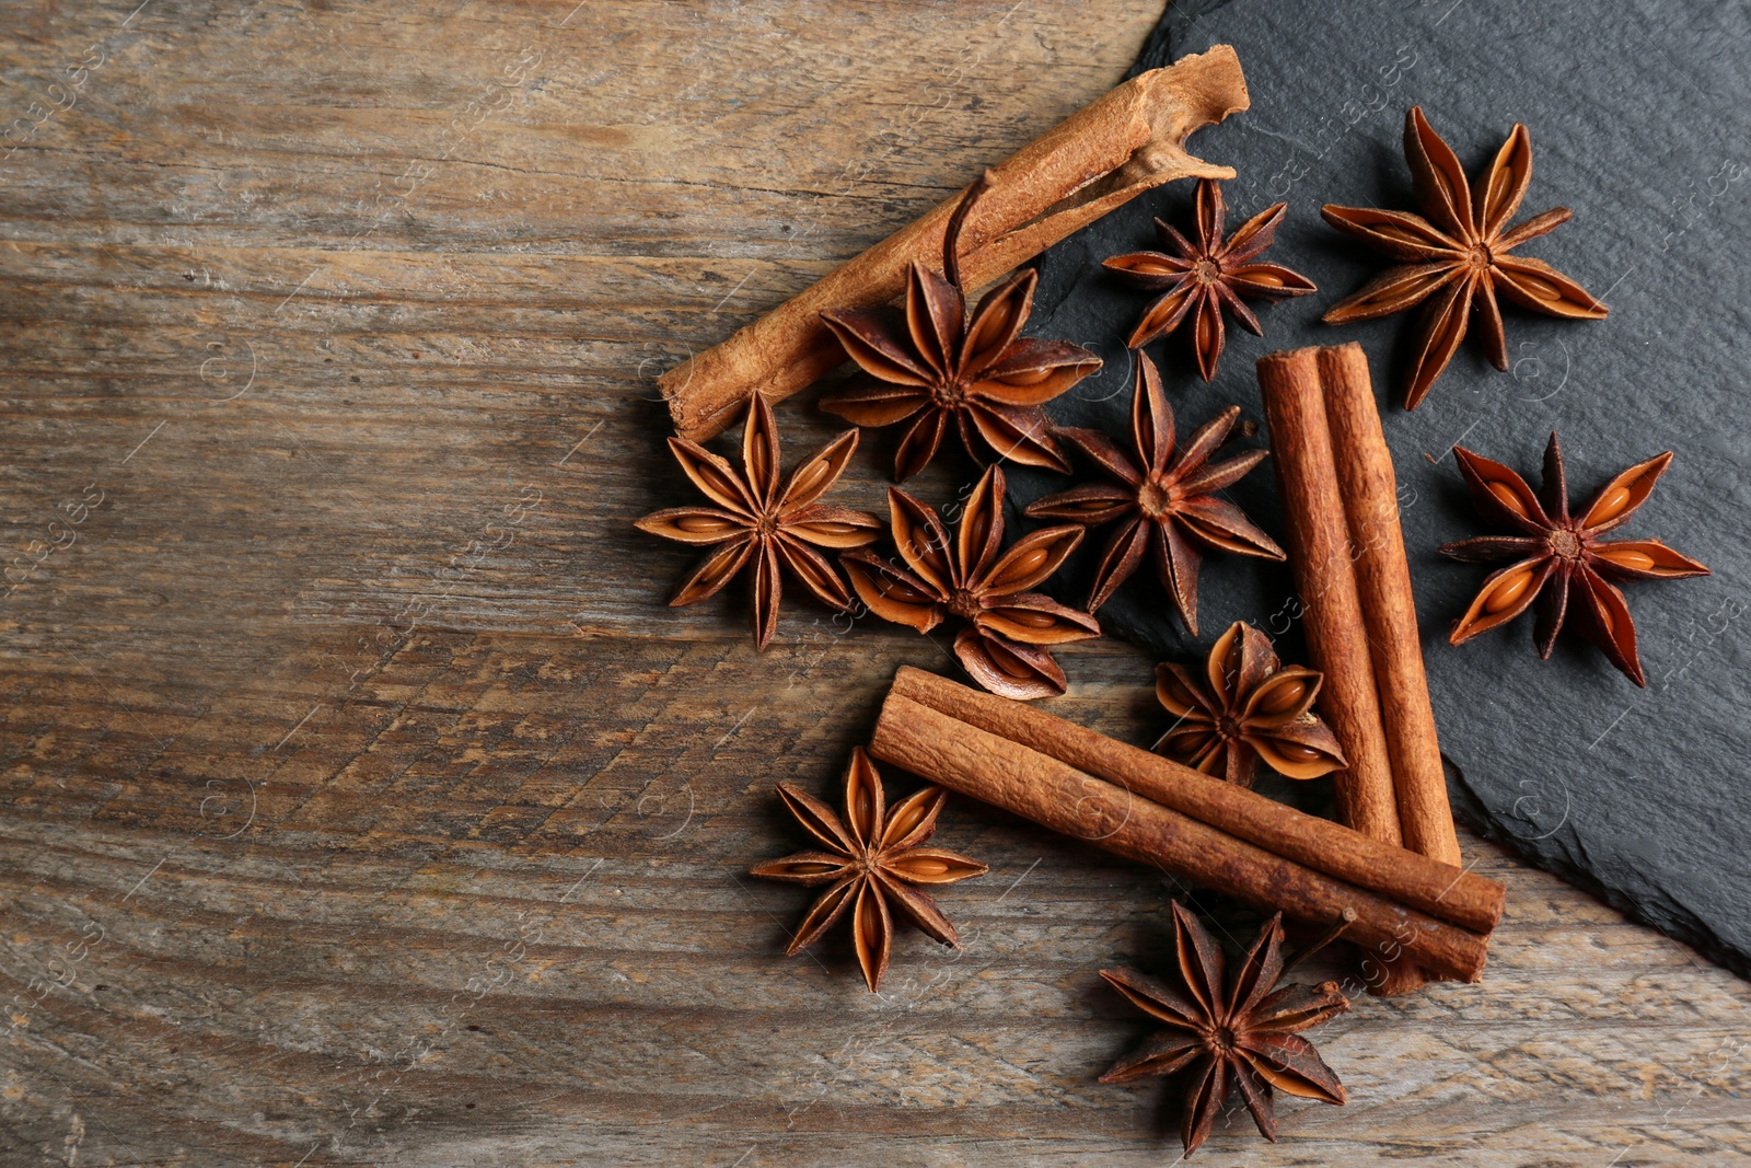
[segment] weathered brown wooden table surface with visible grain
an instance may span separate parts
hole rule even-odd
[[[1171,881],[951,804],[960,953],[783,958],[774,781],[942,651],[797,602],[755,653],[630,527],[686,499],[655,373],[1157,5],[137,4],[0,5],[0,1163],[1173,1163],[1161,1086],[1094,1082]],[[1140,653],[1065,660],[1159,728]],[[1744,1163],[1751,988],[1464,844],[1487,981],[1359,1000],[1350,1107],[1201,1159]]]

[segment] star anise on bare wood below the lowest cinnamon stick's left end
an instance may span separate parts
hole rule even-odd
[[[923,888],[954,884],[972,876],[984,876],[989,869],[942,848],[925,848],[937,832],[937,816],[942,813],[947,792],[926,786],[900,800],[890,813],[881,774],[858,746],[851,751],[851,767],[846,770],[844,820],[819,799],[790,783],[779,783],[777,793],[825,851],[798,851],[762,863],[751,869],[751,874],[770,881],[828,886],[802,918],[790,949],[784,951],[788,956],[819,940],[849,907],[858,965],[863,967],[863,981],[874,993],[888,972],[888,954],[893,947],[890,902],[942,944],[960,944],[954,925],[942,916],[937,902]]]

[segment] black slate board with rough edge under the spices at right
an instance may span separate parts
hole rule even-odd
[[[1320,291],[1261,310],[1262,340],[1231,329],[1205,385],[1182,336],[1161,361],[1180,433],[1227,403],[1261,427],[1254,361],[1276,348],[1359,340],[1383,399],[1397,464],[1436,718],[1459,813],[1534,863],[1751,975],[1751,394],[1744,264],[1751,238],[1751,7],[1721,4],[1515,4],[1234,0],[1170,9],[1138,67],[1233,44],[1252,109],[1201,131],[1192,149],[1233,165],[1231,224],[1289,200],[1271,259]],[[1532,133],[1534,179],[1520,219],[1567,205],[1574,219],[1525,247],[1611,306],[1607,320],[1558,322],[1504,310],[1513,357],[1492,369],[1467,345],[1415,413],[1399,406],[1408,317],[1319,324],[1385,263],[1319,219],[1320,203],[1411,207],[1404,112],[1422,105],[1476,173],[1516,121]],[[1040,261],[1030,333],[1096,348],[1107,368],[1052,405],[1059,422],[1122,433],[1122,345],[1142,294],[1098,261],[1152,247],[1150,219],[1187,228],[1191,184],[1136,200]],[[1627,585],[1648,688],[1590,644],[1532,648],[1530,616],[1460,648],[1446,629],[1485,569],[1436,555],[1481,534],[1450,448],[1478,450],[1536,485],[1544,440],[1564,440],[1585,499],[1660,450],[1672,469],[1621,532],[1660,538],[1714,569],[1700,580]],[[1061,478],[1017,471],[1028,501]],[[1269,464],[1229,496],[1282,532]],[[1094,532],[1086,560],[1103,543]],[[1201,657],[1233,620],[1278,634],[1299,658],[1287,571],[1206,560],[1201,641],[1170,618],[1152,580],[1128,585],[1103,623],[1164,658]],[[1072,576],[1068,599],[1086,597]],[[1280,788],[1273,788],[1280,790]],[[1513,905],[1509,905],[1513,912]]]

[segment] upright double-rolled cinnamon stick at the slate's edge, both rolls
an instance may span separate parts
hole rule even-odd
[[[1320,707],[1350,765],[1336,776],[1345,823],[1441,863],[1460,863],[1399,527],[1392,455],[1361,345],[1259,361],[1271,459],[1301,594]],[[1389,991],[1413,989],[1394,968]]]

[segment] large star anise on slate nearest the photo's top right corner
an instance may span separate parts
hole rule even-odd
[[[1431,130],[1420,107],[1411,107],[1404,119],[1404,156],[1422,215],[1333,205],[1322,207],[1320,215],[1376,252],[1404,261],[1333,305],[1324,317],[1327,324],[1389,317],[1429,301],[1417,322],[1417,355],[1404,383],[1406,410],[1415,410],[1429,394],[1473,317],[1485,355],[1497,369],[1508,368],[1497,294],[1548,317],[1604,319],[1607,308],[1579,284],[1543,259],[1508,254],[1571,215],[1567,207],[1557,207],[1516,228],[1508,226],[1532,182],[1532,138],[1525,126],[1515,124],[1474,189],[1467,189],[1459,156]]]

